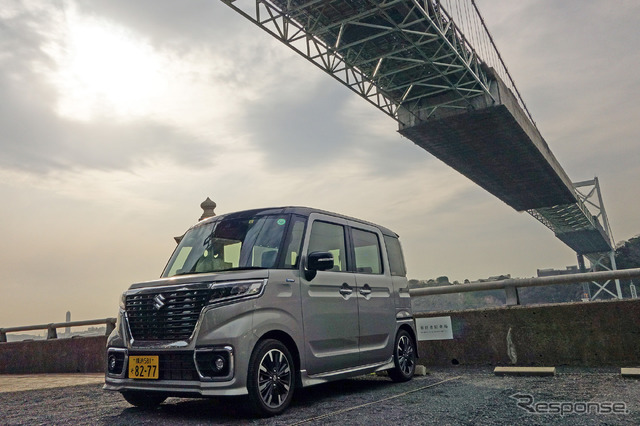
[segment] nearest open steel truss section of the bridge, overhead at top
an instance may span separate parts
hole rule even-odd
[[[222,1],[396,121],[400,108],[429,116],[492,96],[483,62],[439,3]]]

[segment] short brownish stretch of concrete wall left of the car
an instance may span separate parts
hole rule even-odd
[[[105,336],[0,343],[0,374],[100,373]]]

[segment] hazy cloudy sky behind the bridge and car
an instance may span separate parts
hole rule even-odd
[[[640,233],[637,0],[477,0],[552,151]],[[217,0],[0,3],[0,327],[115,316],[217,212],[308,205],[401,236],[410,278],[575,254]]]

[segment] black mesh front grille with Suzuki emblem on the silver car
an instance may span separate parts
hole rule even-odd
[[[187,340],[211,290],[169,290],[126,297],[129,329],[135,340]]]

